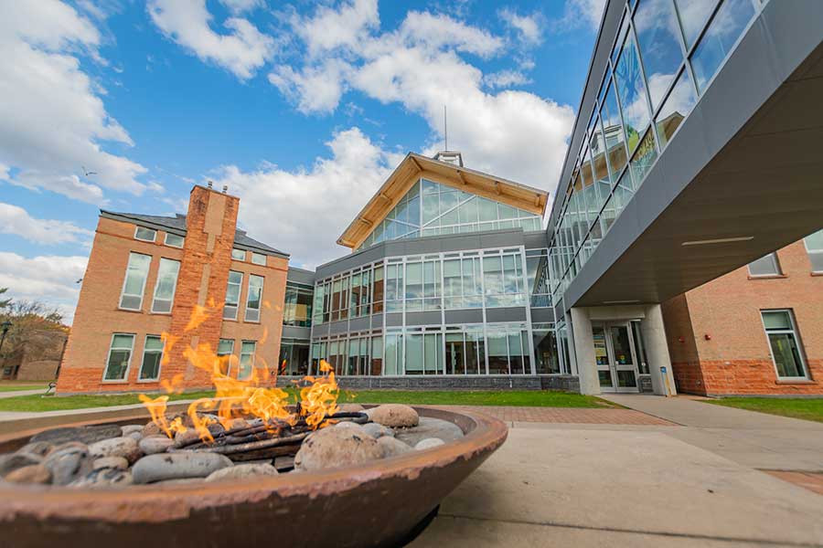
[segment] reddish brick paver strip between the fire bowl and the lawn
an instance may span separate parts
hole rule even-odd
[[[453,407],[453,406],[444,406]],[[494,416],[506,422],[569,423],[583,425],[641,425],[674,427],[657,416],[634,409],[588,407],[519,407],[519,406],[454,406]]]

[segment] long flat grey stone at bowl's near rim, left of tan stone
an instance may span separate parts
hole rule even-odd
[[[134,483],[152,483],[164,479],[206,478],[230,466],[231,460],[217,453],[161,453],[138,460],[132,474]]]

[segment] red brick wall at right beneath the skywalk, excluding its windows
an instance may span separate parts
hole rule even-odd
[[[669,352],[683,392],[823,394],[823,277],[811,274],[802,241],[780,249],[777,257],[780,277],[752,279],[743,267],[676,298],[685,300],[689,321],[675,300],[664,304]],[[760,315],[766,309],[793,311],[809,381],[778,380]],[[694,353],[680,352],[680,337],[693,345]]]

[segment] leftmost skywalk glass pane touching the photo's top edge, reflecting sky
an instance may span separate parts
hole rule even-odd
[[[678,19],[671,0],[642,0],[635,12],[635,32],[646,68],[652,110],[663,100],[683,60]]]

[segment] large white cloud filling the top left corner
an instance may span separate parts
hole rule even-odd
[[[100,40],[87,18],[57,0],[0,3],[0,163],[8,182],[94,203],[101,187],[143,192],[136,177],[145,168],[101,147],[132,141],[76,57],[100,60]],[[82,176],[83,165],[97,175]]]

